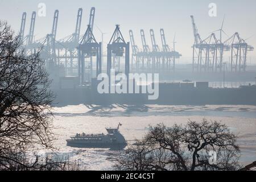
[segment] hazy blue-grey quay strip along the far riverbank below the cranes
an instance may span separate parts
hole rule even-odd
[[[60,81],[56,105],[78,104],[129,104],[129,105],[256,105],[256,86],[239,88],[211,88],[209,82],[159,82],[159,97],[148,100],[148,94],[99,94],[97,81],[79,86],[74,77]],[[64,84],[65,83],[65,84]]]

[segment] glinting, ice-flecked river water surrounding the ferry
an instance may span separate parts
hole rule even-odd
[[[242,156],[240,162],[249,164],[256,160],[256,106],[163,106],[163,105],[76,105],[53,107],[55,115],[55,146],[59,154],[79,161],[86,169],[112,170],[115,159],[122,152],[100,148],[72,148],[65,139],[76,133],[106,133],[105,127],[117,127],[132,142],[146,133],[148,125],[187,123],[189,119],[203,118],[225,123],[238,135]]]

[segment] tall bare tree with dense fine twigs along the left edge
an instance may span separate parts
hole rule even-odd
[[[42,169],[39,149],[53,150],[51,81],[39,52],[27,56],[19,36],[0,21],[0,169]],[[60,164],[60,166],[63,163]],[[52,168],[51,166],[51,168]]]

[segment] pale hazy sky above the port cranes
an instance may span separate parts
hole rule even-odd
[[[193,44],[192,26],[190,15],[195,16],[197,28],[202,38],[206,38],[210,32],[220,28],[224,14],[226,19],[224,31],[232,36],[239,32],[242,38],[252,38],[247,42],[256,48],[256,1],[255,0],[0,0],[1,20],[7,20],[15,31],[19,31],[21,16],[27,12],[26,32],[30,26],[32,11],[38,11],[38,4],[46,4],[46,17],[36,17],[35,35],[36,39],[42,38],[51,32],[53,12],[59,10],[59,24],[57,27],[57,39],[63,38],[75,31],[77,10],[82,7],[81,34],[84,34],[86,24],[89,20],[89,11],[92,6],[96,7],[95,25],[105,35],[104,42],[108,42],[112,35],[115,24],[121,25],[121,31],[130,42],[129,30],[133,30],[135,42],[141,46],[139,30],[144,29],[147,44],[151,47],[150,28],[155,31],[156,42],[161,45],[160,28],[164,28],[168,44],[172,47],[172,39],[176,32],[176,50],[183,57],[191,57]],[[208,15],[209,3],[216,3],[217,17]],[[94,27],[94,34],[98,42],[101,41],[101,34]],[[219,37],[219,33],[217,33]],[[223,39],[228,36],[223,35]],[[256,57],[256,51],[250,56]],[[256,63],[256,61],[255,61]]]

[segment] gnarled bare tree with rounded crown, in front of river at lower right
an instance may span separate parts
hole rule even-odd
[[[126,150],[115,167],[131,171],[216,171],[236,170],[240,149],[236,136],[220,122],[166,127],[150,126],[142,140]]]

